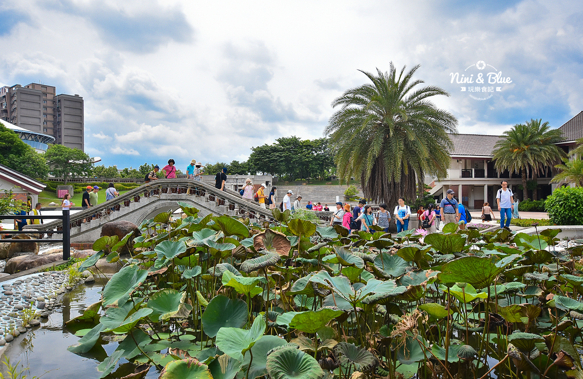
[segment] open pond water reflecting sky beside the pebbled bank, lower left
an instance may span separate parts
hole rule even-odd
[[[103,284],[93,286],[80,285],[71,292],[63,295],[61,306],[55,308],[48,321],[29,332],[26,336],[16,339],[16,346],[9,349],[10,362],[15,364],[20,361],[23,367],[29,367],[26,371],[28,377],[43,376],[43,379],[78,379],[99,378],[101,373],[97,371],[97,365],[106,359],[117,348],[116,341],[99,339],[89,352],[77,355],[67,348],[79,340],[75,332],[80,329],[92,328],[91,323],[78,323],[71,327],[65,327],[65,322],[83,314],[90,304],[101,300],[99,292]],[[134,372],[134,365],[121,359],[120,367],[114,370],[106,378],[120,378]],[[159,371],[151,369],[146,378],[157,378]]]

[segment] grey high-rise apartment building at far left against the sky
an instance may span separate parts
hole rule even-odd
[[[83,97],[56,93],[54,86],[41,83],[0,87],[0,119],[83,150]]]

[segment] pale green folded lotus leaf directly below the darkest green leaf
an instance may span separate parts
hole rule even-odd
[[[216,346],[234,359],[243,362],[245,353],[259,341],[265,332],[265,320],[255,318],[251,329],[220,328],[216,336]]]

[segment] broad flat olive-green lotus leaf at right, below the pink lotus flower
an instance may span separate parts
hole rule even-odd
[[[429,236],[434,234],[437,235],[432,233]],[[442,283],[470,283],[477,289],[482,289],[491,285],[503,270],[504,268],[496,267],[488,258],[470,256],[447,262],[441,266],[441,273],[437,278]]]

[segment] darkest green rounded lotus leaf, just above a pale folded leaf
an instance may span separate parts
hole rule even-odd
[[[202,329],[209,337],[215,337],[220,328],[242,328],[247,323],[245,301],[217,295],[209,301],[202,313]]]

